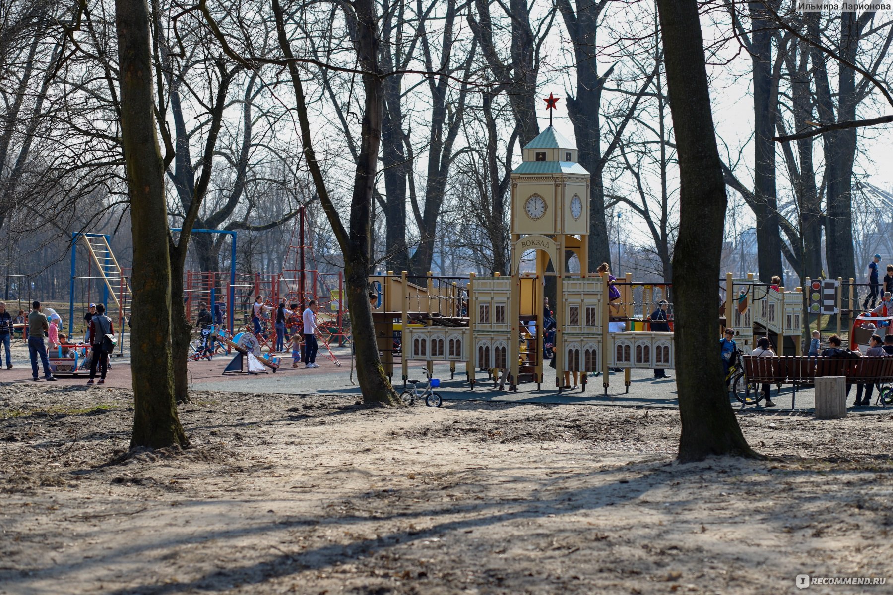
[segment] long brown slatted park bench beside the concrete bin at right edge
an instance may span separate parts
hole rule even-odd
[[[893,357],[822,358],[822,356],[785,355],[760,357],[745,355],[744,376],[748,384],[791,384],[797,400],[797,387],[813,384],[822,376],[847,376],[847,384],[888,384],[893,382]]]

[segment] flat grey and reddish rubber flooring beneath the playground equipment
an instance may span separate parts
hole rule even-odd
[[[265,374],[235,374],[223,376],[223,369],[230,363],[230,356],[219,356],[212,361],[194,361],[188,364],[190,386],[196,391],[221,391],[227,393],[280,393],[280,394],[355,394],[360,397],[360,388],[356,384],[356,372],[351,374],[350,351],[347,348],[333,350],[341,366],[336,366],[329,357],[322,354],[317,359],[320,368],[306,369],[299,364],[298,368],[291,367],[290,355],[282,358],[281,368],[275,372]],[[15,352],[13,351],[13,354]],[[286,355],[286,354],[283,354]],[[31,383],[31,368],[28,359],[13,359],[13,369],[0,369],[0,383]],[[450,377],[449,366],[445,363],[435,364],[434,376],[440,379],[438,393],[444,401],[506,401],[528,403],[575,403],[591,405],[621,405],[638,408],[671,408],[679,407],[676,394],[676,382],[673,379],[674,370],[669,370],[671,376],[666,379],[655,379],[651,370],[632,370],[630,377],[630,389],[626,392],[623,384],[622,372],[609,375],[610,385],[605,394],[602,386],[602,377],[589,377],[585,390],[581,387],[573,390],[564,390],[558,393],[555,389],[555,371],[546,368],[546,382],[537,390],[536,384],[521,384],[517,392],[498,391],[494,389],[493,381],[488,380],[486,372],[476,373],[476,382],[472,391],[465,381],[463,369],[457,370],[455,378]],[[400,379],[399,363],[395,366],[394,384],[397,391],[404,390]],[[42,375],[41,375],[42,376]],[[410,364],[410,378],[425,380],[424,364],[412,362]],[[41,377],[41,382],[43,381]],[[86,376],[71,377],[59,376],[58,384],[83,385],[87,383]],[[109,370],[106,378],[106,386],[115,388],[129,388],[130,362],[129,359],[113,358],[113,368]],[[420,392],[423,384],[419,384]],[[407,385],[408,387],[408,385]],[[101,390],[101,386],[95,386]],[[773,408],[747,407],[748,411],[766,411],[795,409],[808,411],[814,409],[814,393],[812,388],[800,388],[795,396],[790,386],[782,387],[780,393],[772,387],[772,400],[777,403]],[[855,401],[855,387],[850,393],[847,403]],[[872,396],[872,403],[875,401]],[[732,406],[738,409],[738,401],[732,401]],[[882,413],[893,412],[891,408],[870,407],[851,409],[851,413]]]

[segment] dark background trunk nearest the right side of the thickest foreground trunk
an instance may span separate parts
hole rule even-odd
[[[750,4],[753,24],[751,67],[754,81],[754,198],[756,216],[757,267],[760,280],[768,283],[781,276],[781,237],[778,201],[775,194],[775,118],[772,97],[772,21],[765,18],[763,4]]]

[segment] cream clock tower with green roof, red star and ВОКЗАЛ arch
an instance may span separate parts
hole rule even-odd
[[[577,162],[577,147],[551,125],[551,110],[558,100],[549,95],[545,100],[550,110],[549,127],[522,149],[522,163],[512,172],[512,343],[511,353],[521,353],[523,325],[530,328],[535,321],[537,341],[530,343],[536,353],[511,359],[511,375],[517,384],[519,359],[536,362],[536,381],[542,382],[543,354],[543,285],[545,277],[556,278],[555,369],[561,386],[563,368],[563,281],[564,252],[574,252],[580,259],[580,277],[587,276],[589,233],[589,172]],[[522,283],[530,271],[521,270],[522,256],[536,251],[535,274],[538,281],[530,293],[530,283]],[[553,271],[547,272],[549,260]],[[576,275],[574,275],[576,277]],[[524,293],[522,295],[522,293]],[[532,305],[532,307],[531,307]],[[530,365],[525,368],[530,368]]]

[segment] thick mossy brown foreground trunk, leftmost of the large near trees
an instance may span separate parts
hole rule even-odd
[[[131,448],[186,446],[174,401],[171,260],[164,169],[154,128],[152,50],[146,0],[115,0],[121,85],[121,140],[133,234],[134,395]]]

